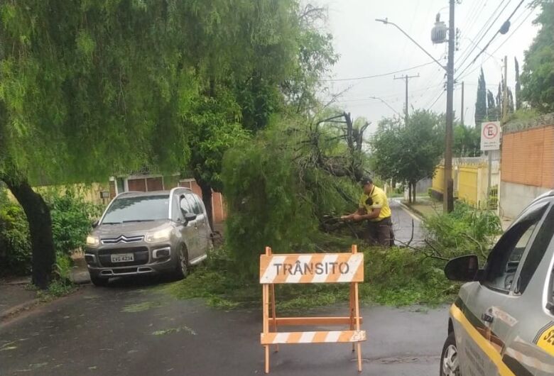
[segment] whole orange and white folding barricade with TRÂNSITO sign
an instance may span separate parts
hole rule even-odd
[[[278,283],[349,283],[349,316],[341,317],[277,317],[275,308],[275,284]],[[312,253],[273,255],[266,247],[260,255],[260,283],[264,325],[261,345],[266,352],[266,373],[269,373],[269,346],[281,343],[352,343],[357,351],[358,371],[362,372],[361,341],[366,332],[360,329],[358,283],[364,282],[364,254],[352,245],[352,253]],[[269,306],[271,301],[271,317]],[[278,332],[278,326],[348,325],[344,331],[291,331]],[[269,328],[273,331],[270,331]]]

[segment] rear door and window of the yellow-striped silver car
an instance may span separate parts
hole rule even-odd
[[[493,331],[504,341],[502,361],[515,375],[554,375],[553,262],[550,204],[518,265],[511,285],[514,304],[493,311]]]

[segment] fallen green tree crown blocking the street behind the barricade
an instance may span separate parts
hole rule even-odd
[[[278,125],[277,125],[278,126]],[[317,167],[313,155],[269,128],[223,160],[227,201],[226,246],[239,270],[254,277],[259,254],[316,250],[313,237],[325,216],[340,216],[357,207],[360,189],[346,177]]]

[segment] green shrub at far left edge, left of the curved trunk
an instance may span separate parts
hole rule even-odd
[[[31,272],[31,240],[23,208],[4,194],[0,199],[0,274],[5,272]]]

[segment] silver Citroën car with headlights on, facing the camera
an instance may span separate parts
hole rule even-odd
[[[110,277],[172,273],[183,278],[207,257],[212,230],[202,200],[188,188],[126,192],[107,206],[87,236],[92,283]]]

